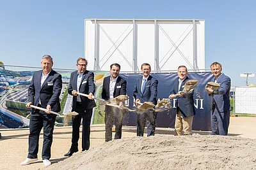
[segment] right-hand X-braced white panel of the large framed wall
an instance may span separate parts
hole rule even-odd
[[[191,22],[157,22],[159,26],[159,67],[184,65],[193,69],[193,24]],[[173,32],[177,32],[173,34]],[[178,34],[179,32],[179,34]]]

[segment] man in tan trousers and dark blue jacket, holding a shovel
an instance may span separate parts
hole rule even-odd
[[[175,108],[176,117],[175,117],[175,134],[182,135],[191,135],[193,117],[196,114],[194,106],[194,90],[188,93],[181,93],[184,89],[186,81],[190,80],[188,77],[188,69],[186,66],[178,67],[178,77],[175,80],[172,90],[170,92],[170,99],[175,99],[175,94],[179,94],[177,99],[174,100],[173,107]]]

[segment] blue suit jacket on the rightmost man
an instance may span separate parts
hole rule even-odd
[[[214,81],[214,78],[212,78],[211,81]],[[217,83],[220,84],[220,89],[214,90],[213,103],[219,112],[230,111],[229,92],[231,80],[228,76],[222,73],[217,78]]]

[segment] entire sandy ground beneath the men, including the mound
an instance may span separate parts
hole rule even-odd
[[[72,127],[56,127],[52,165],[46,169],[256,169],[255,123],[256,118],[231,117],[228,136],[202,131],[173,136],[173,129],[157,128],[156,136],[149,138],[137,137],[136,127],[124,126],[122,139],[108,143],[104,124],[92,125],[90,150],[72,157],[63,156],[70,148]],[[20,166],[28,154],[29,129],[0,132],[1,169],[45,169],[40,156],[42,135],[38,161]]]

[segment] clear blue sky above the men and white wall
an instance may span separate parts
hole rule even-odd
[[[84,56],[84,19],[205,20],[205,67],[218,61],[232,86],[255,73],[256,1],[4,1],[0,0],[0,60],[40,67],[50,54],[55,68],[76,69]],[[256,85],[256,78],[248,78]]]

